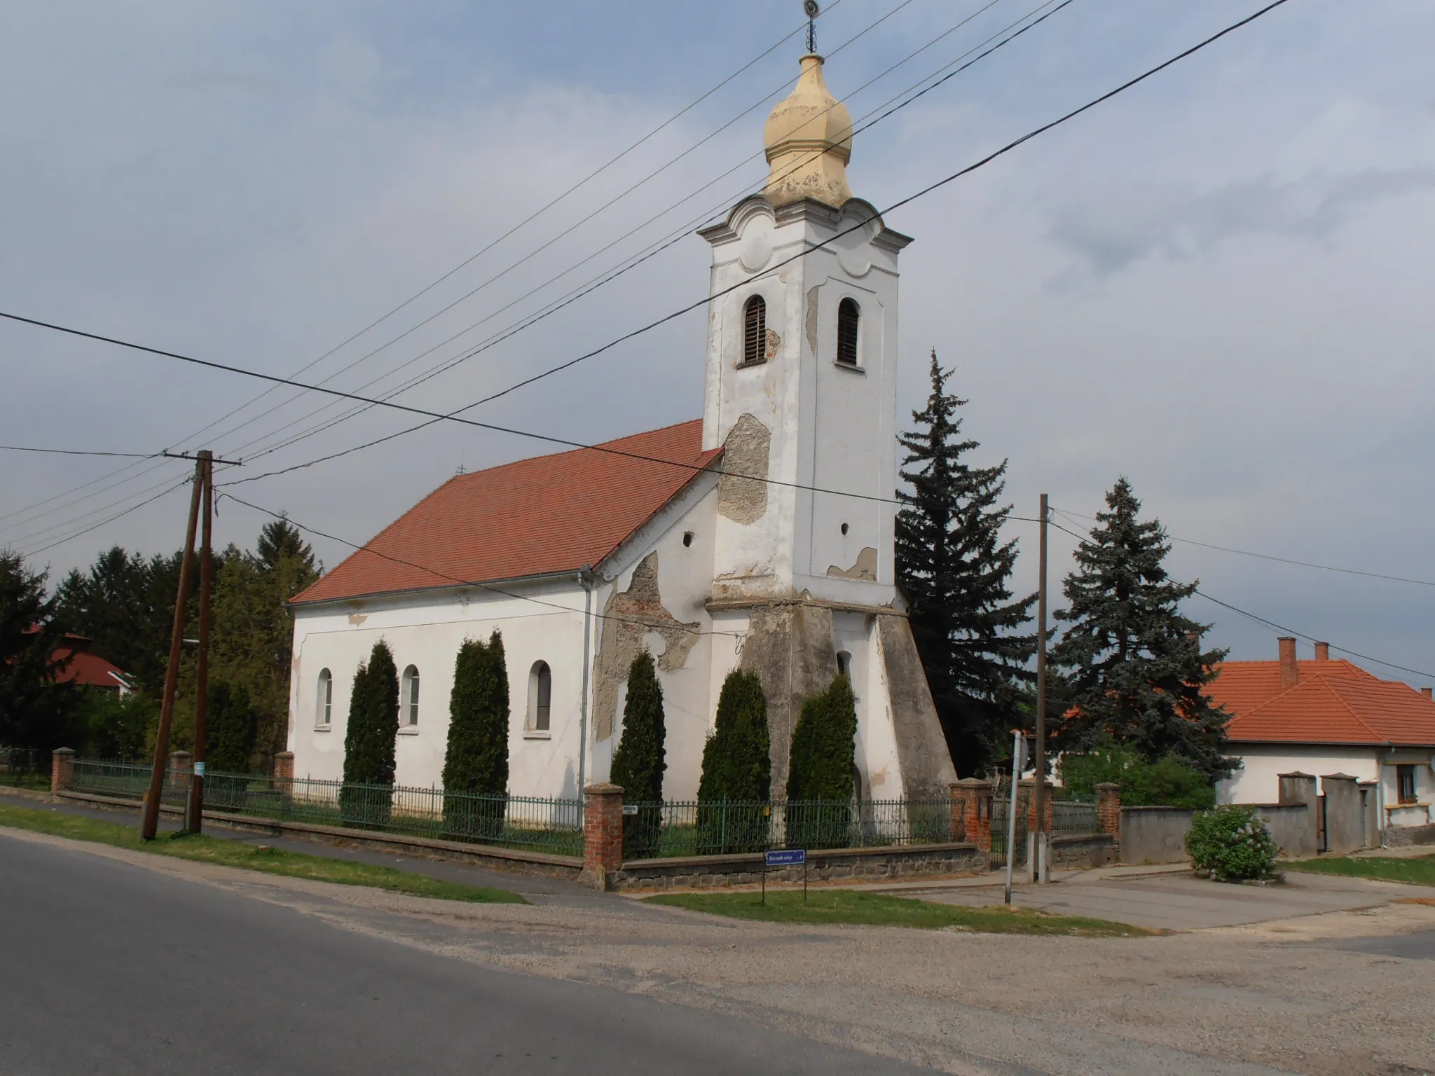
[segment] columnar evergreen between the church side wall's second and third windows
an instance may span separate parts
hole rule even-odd
[[[497,836],[508,793],[508,661],[504,637],[465,638],[453,663],[443,828],[455,836]]]

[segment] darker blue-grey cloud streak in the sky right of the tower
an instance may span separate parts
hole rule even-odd
[[[1134,187],[1062,207],[1049,238],[1096,277],[1108,277],[1152,255],[1203,257],[1237,235],[1325,240],[1372,202],[1431,188],[1432,168],[1366,169],[1293,182],[1261,176],[1203,192]]]

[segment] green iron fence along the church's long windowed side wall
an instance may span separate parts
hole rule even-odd
[[[141,763],[76,760],[70,788],[142,799],[149,791],[149,766]],[[189,770],[166,770],[161,799],[184,802],[189,776]],[[478,796],[441,788],[356,785],[316,778],[274,780],[254,773],[211,770],[204,779],[204,803],[212,811],[281,822],[583,855],[580,799]]]

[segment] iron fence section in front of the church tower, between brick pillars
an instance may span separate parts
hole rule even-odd
[[[887,848],[953,836],[950,799],[713,801],[624,808],[629,859],[763,852],[769,848]]]

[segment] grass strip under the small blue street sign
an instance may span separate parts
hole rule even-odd
[[[646,901],[762,922],[855,922],[976,934],[1063,934],[1085,938],[1134,938],[1154,933],[1125,922],[1052,915],[1035,908],[936,904],[852,889],[812,889],[806,904],[802,902],[802,894],[794,889],[769,891],[766,904],[759,901],[756,892],[664,892],[647,897]]]

